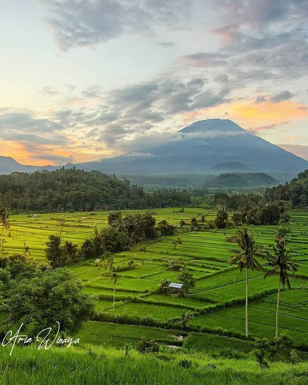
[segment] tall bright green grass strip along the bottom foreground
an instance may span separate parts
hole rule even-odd
[[[224,360],[180,351],[162,350],[156,356],[112,348],[92,351],[77,348],[36,350],[34,346],[0,347],[0,384],[304,384],[308,363],[271,363],[261,370],[253,360]],[[186,369],[181,360],[191,360]]]

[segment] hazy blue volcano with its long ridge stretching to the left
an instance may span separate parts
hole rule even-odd
[[[85,171],[99,170],[115,175],[209,174],[212,167],[224,165],[223,171],[253,171],[291,174],[308,168],[308,161],[250,134],[229,119],[198,121],[162,136],[160,145],[145,146],[139,153],[127,153],[95,162],[75,164]],[[166,139],[166,140],[164,140]],[[12,171],[54,170],[61,166],[23,166],[12,158],[0,159],[0,173]],[[231,165],[231,166],[230,166]],[[233,165],[233,166],[232,166]],[[233,167],[248,169],[234,169]],[[65,167],[70,168],[72,164]],[[219,166],[220,167],[220,166]],[[221,172],[218,170],[216,173]]]

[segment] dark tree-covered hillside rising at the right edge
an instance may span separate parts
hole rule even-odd
[[[269,201],[290,201],[293,208],[308,208],[308,170],[300,172],[290,182],[267,188],[265,197]]]

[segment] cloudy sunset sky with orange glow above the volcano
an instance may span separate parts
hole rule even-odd
[[[308,1],[2,0],[0,155],[64,164],[231,119],[308,159]]]

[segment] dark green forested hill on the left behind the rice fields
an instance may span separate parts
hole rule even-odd
[[[186,191],[166,189],[147,194],[128,179],[73,167],[0,175],[0,201],[21,211],[92,211],[179,206],[190,198]]]

